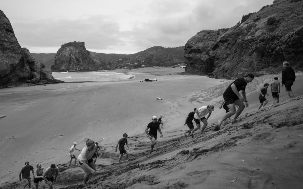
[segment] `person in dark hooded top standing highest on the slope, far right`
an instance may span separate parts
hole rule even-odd
[[[282,70],[282,87],[285,86],[285,91],[288,95],[288,97],[294,98],[295,95],[292,93],[291,86],[294,84],[296,79],[295,70],[293,70],[291,67],[289,67],[288,62],[283,62],[284,69]]]

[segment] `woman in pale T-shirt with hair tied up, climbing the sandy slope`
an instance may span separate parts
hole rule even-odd
[[[95,141],[86,138],[85,140],[86,146],[82,149],[81,153],[78,156],[80,167],[85,171],[83,181],[84,184],[87,184],[89,175],[96,173],[96,167],[93,160],[93,155],[95,151],[97,151],[97,145],[95,144]],[[97,154],[99,155],[99,153]]]

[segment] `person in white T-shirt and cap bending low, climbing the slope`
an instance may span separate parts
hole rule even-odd
[[[192,130],[190,136],[194,137],[194,132],[198,129],[200,129],[201,124],[200,122],[203,122],[203,127],[201,130],[201,133],[203,133],[204,129],[207,126],[207,120],[209,118],[209,116],[211,115],[211,112],[214,111],[214,105],[210,104],[208,106],[202,106],[199,109],[196,109],[195,111],[195,115],[194,115],[194,121],[196,122],[197,127],[195,129]],[[205,116],[207,115],[207,117],[205,118]]]

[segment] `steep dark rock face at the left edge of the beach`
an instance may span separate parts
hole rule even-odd
[[[21,48],[13,28],[0,10],[0,87],[17,83],[64,83],[55,80],[52,71],[36,62],[26,48]]]

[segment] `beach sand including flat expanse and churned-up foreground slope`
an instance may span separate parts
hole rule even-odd
[[[20,187],[19,172],[29,161],[34,168],[38,162],[44,168],[58,165],[55,188],[82,188],[84,171],[74,162],[68,166],[68,151],[73,142],[82,149],[89,137],[105,150],[97,159],[97,176],[90,178],[94,188],[302,188],[302,77],[293,86],[297,98],[288,100],[281,88],[280,106],[271,107],[269,93],[267,107],[256,111],[258,92],[251,92],[242,121],[227,121],[212,132],[225,113],[218,108],[222,96],[204,102],[198,94],[227,81],[183,71],[141,68],[123,71],[135,75],[125,81],[1,89],[0,116],[6,117],[0,119],[0,186]],[[152,77],[158,81],[140,82]],[[185,138],[187,114],[210,103],[215,111],[205,132]],[[157,138],[149,155],[144,130],[152,116],[160,115],[164,137]],[[130,161],[114,164],[124,132]]]

